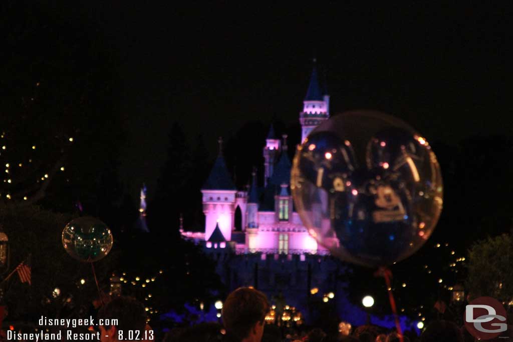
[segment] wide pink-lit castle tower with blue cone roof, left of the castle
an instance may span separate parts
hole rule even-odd
[[[216,226],[227,241],[231,239],[235,194],[233,184],[222,153],[223,139],[219,138],[219,155],[212,171],[201,189],[203,195],[203,213],[205,214],[205,240],[208,241]]]

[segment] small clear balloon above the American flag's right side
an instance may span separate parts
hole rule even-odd
[[[94,217],[78,217],[64,227],[62,242],[69,255],[77,260],[92,263],[109,254],[112,233]]]

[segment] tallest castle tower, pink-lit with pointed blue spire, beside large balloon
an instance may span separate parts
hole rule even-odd
[[[319,82],[315,58],[313,59],[312,76],[303,101],[303,111],[299,114],[301,123],[301,143],[310,132],[329,118],[329,95],[324,86]]]

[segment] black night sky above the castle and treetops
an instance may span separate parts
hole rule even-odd
[[[381,110],[451,144],[513,128],[509,9],[225,4],[59,9],[105,37],[119,60],[131,187],[152,190],[174,120],[191,140],[202,133],[212,156],[216,137],[248,121],[297,122],[314,54],[327,70],[332,113]]]

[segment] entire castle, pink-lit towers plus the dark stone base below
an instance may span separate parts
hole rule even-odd
[[[329,95],[314,60],[299,113],[302,141],[328,118]],[[205,230],[181,229],[181,234],[216,260],[217,272],[229,290],[253,286],[307,316],[315,298],[337,306],[346,267],[317,244],[294,211],[286,138],[276,136],[271,125],[263,146],[264,187],[258,186],[253,172],[247,191],[235,188],[220,148],[201,189]],[[342,306],[339,303],[337,311]]]

